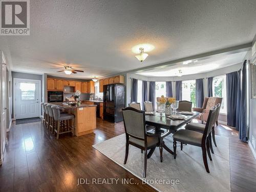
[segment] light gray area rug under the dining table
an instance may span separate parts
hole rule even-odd
[[[164,141],[173,149],[171,135],[165,137]],[[216,141],[218,147],[214,147],[215,154],[211,155],[212,161],[208,159],[209,174],[204,168],[201,147],[183,145],[183,151],[180,151],[180,145],[177,144],[176,159],[163,150],[162,163],[159,148],[156,148],[151,158],[147,160],[145,182],[158,191],[230,191],[229,141],[228,138],[220,136],[216,136]],[[139,148],[130,145],[127,162],[123,164],[125,134],[97,143],[93,147],[142,179],[144,154],[141,154]],[[179,182],[176,182],[177,180]]]

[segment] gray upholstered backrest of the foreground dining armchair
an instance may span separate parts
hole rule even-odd
[[[145,112],[127,107],[122,109],[125,134],[146,140]]]

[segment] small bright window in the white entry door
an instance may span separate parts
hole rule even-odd
[[[21,82],[19,86],[22,100],[35,100],[35,83]]]

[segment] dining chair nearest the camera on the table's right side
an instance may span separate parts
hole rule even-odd
[[[195,146],[199,146],[202,148],[203,153],[203,161],[204,167],[207,173],[210,173],[208,163],[207,163],[207,155],[210,160],[210,148],[209,148],[209,134],[211,132],[211,127],[215,124],[215,116],[217,113],[217,106],[214,106],[212,109],[209,110],[208,119],[205,125],[205,129],[203,133],[191,131],[191,130],[179,130],[174,133],[174,159],[176,159],[176,148],[177,148],[177,141],[184,142],[186,144],[191,144]]]

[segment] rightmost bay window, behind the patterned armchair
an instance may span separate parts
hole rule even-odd
[[[214,77],[212,80],[212,89],[214,97],[223,98],[220,113],[227,114],[226,75]]]

